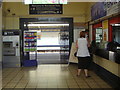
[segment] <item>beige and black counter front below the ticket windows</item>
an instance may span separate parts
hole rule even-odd
[[[113,88],[119,88],[120,64],[94,54],[92,66],[96,74],[103,80],[108,82]]]

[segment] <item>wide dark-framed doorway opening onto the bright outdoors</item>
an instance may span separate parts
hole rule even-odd
[[[26,59],[37,59],[39,64],[69,62],[73,42],[72,18],[21,18],[20,29],[23,32],[21,63]],[[36,52],[25,52],[24,32],[37,32]]]

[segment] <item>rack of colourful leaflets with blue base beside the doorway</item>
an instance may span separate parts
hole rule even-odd
[[[35,52],[35,59],[24,60],[23,65],[37,66],[37,32],[35,31],[24,31],[24,53],[29,57],[30,52]]]

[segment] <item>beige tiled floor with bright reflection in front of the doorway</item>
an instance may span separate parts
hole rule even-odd
[[[111,88],[106,82],[90,71],[92,77],[76,76],[77,65],[43,64],[38,67],[3,69],[3,88]]]

